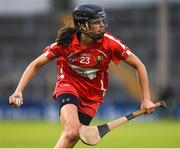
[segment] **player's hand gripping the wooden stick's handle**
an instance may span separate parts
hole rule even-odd
[[[155,104],[151,100],[143,100],[141,103],[141,109],[145,109],[145,114],[150,114],[155,111]]]

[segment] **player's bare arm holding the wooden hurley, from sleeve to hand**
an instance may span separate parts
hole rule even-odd
[[[124,60],[128,65],[132,66],[138,75],[140,87],[142,90],[142,104],[141,108],[145,108],[147,113],[153,112],[155,109],[154,104],[150,100],[149,93],[149,80],[145,65],[133,53]]]

